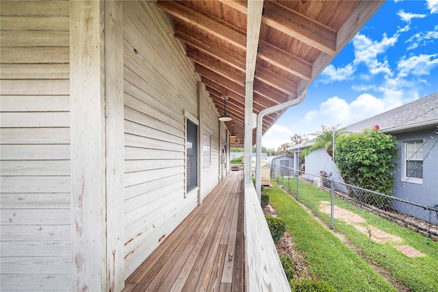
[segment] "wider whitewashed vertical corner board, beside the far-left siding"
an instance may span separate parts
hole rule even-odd
[[[72,291],[106,291],[103,1],[70,2]]]

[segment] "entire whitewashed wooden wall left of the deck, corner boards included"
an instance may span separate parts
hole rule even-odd
[[[79,289],[79,284],[91,284],[88,288],[96,291],[120,290],[120,278],[127,278],[219,180],[220,149],[227,141],[225,127],[218,123],[211,99],[198,86],[198,77],[173,36],[168,16],[154,2],[126,1],[123,29],[118,32],[120,18],[114,12],[121,11],[121,2],[75,3],[1,1],[1,291],[70,291]],[[112,17],[105,19],[102,14],[90,21],[95,32],[82,36],[73,34],[73,29],[70,32],[70,24],[76,27],[81,21],[75,17],[82,11],[99,15],[104,7]],[[103,23],[107,25],[105,34],[99,30]],[[93,26],[96,24],[99,29]],[[119,54],[118,47],[112,47],[118,40],[110,38],[122,34],[123,54]],[[84,45],[83,50],[73,50],[72,45],[70,50],[70,43],[82,44],[88,37],[100,41],[101,47]],[[72,57],[87,49],[94,55]],[[116,55],[123,59],[123,66],[112,62],[111,56]],[[71,58],[80,62],[70,66]],[[79,73],[93,74],[93,79],[82,82],[78,76],[85,75],[72,74],[73,69],[75,74],[80,71],[78,67],[83,71]],[[117,69],[123,70],[120,86],[111,79],[119,76],[111,73]],[[77,84],[72,88],[77,89],[70,90],[72,80]],[[80,105],[75,103],[73,93],[76,98],[94,81]],[[120,94],[114,90],[117,87],[122,88]],[[94,96],[96,88],[99,94]],[[88,97],[93,99],[90,107]],[[118,106],[120,97],[123,104]],[[72,117],[70,111],[75,112]],[[99,117],[98,112],[102,114]],[[114,125],[118,117],[123,122]],[[202,130],[211,132],[211,163],[198,168],[200,188],[188,194],[186,117],[199,123],[201,162]],[[74,131],[70,130],[73,123]],[[87,133],[82,135],[82,130]],[[91,137],[95,137],[92,142],[88,140]],[[123,140],[122,147],[116,140]],[[70,141],[74,143],[70,145]],[[105,145],[110,148],[106,152]],[[88,162],[94,158],[99,162],[91,167]],[[123,165],[120,176],[119,169],[112,169],[119,165]],[[93,176],[95,169],[99,174]],[[86,175],[81,175],[81,170]],[[116,185],[122,180],[118,191]],[[120,238],[123,243],[118,243]],[[118,248],[113,249],[118,246],[125,249],[121,257]],[[121,258],[122,267],[116,258]],[[86,273],[89,275],[83,275]]]

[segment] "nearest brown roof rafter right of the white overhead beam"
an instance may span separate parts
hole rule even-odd
[[[336,32],[276,1],[265,1],[261,21],[279,31],[333,56],[336,52]]]

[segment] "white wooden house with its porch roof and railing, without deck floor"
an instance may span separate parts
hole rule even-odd
[[[253,114],[382,4],[1,0],[0,290],[121,291],[225,178],[231,127],[250,153]],[[245,287],[284,291],[250,170]]]

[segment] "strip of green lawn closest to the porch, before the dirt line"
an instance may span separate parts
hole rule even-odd
[[[396,291],[281,189],[274,187],[266,192],[315,278],[324,280],[335,291]]]

